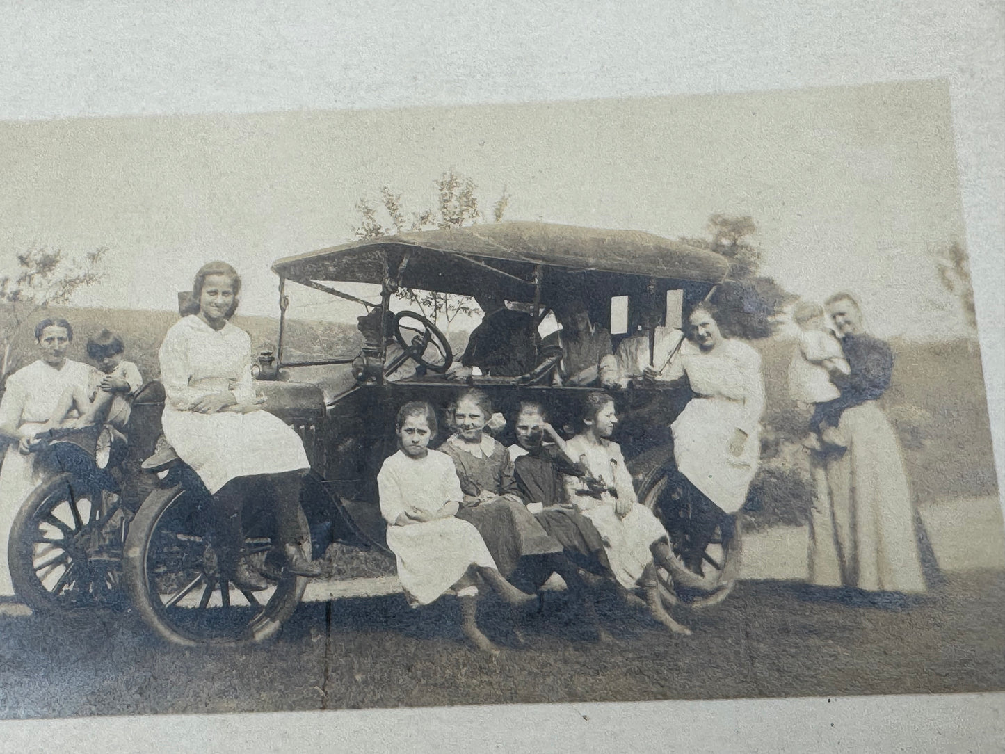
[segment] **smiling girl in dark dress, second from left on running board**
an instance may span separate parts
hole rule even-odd
[[[453,459],[460,479],[464,498],[457,517],[478,530],[504,576],[513,574],[522,558],[553,559],[560,554],[562,545],[524,505],[510,452],[485,433],[492,415],[488,396],[465,390],[451,413],[455,432],[439,449]]]

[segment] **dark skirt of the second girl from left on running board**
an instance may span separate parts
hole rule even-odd
[[[512,498],[496,498],[473,508],[461,508],[457,518],[478,530],[504,576],[511,575],[521,558],[562,552],[527,506]]]

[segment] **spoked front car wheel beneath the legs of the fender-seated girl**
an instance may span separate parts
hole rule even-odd
[[[232,569],[221,563],[212,499],[179,486],[155,491],[141,506],[126,543],[126,583],[144,620],[166,640],[188,646],[263,641],[296,608],[308,580],[283,570],[272,509],[248,508],[242,555],[267,581],[260,591],[235,584]],[[310,548],[303,515],[300,529]]]

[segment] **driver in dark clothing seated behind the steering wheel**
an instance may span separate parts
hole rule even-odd
[[[485,317],[471,332],[460,366],[448,373],[450,379],[466,380],[472,367],[491,377],[519,377],[531,372],[538,357],[534,316],[508,309],[494,293],[478,294],[474,300]]]

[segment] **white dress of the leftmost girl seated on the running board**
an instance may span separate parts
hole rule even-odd
[[[398,450],[377,475],[380,512],[387,521],[387,545],[398,561],[398,580],[412,606],[426,605],[453,586],[471,565],[494,568],[478,530],[450,517],[395,526],[407,507],[426,513],[463,500],[453,459],[430,450],[413,458]]]

